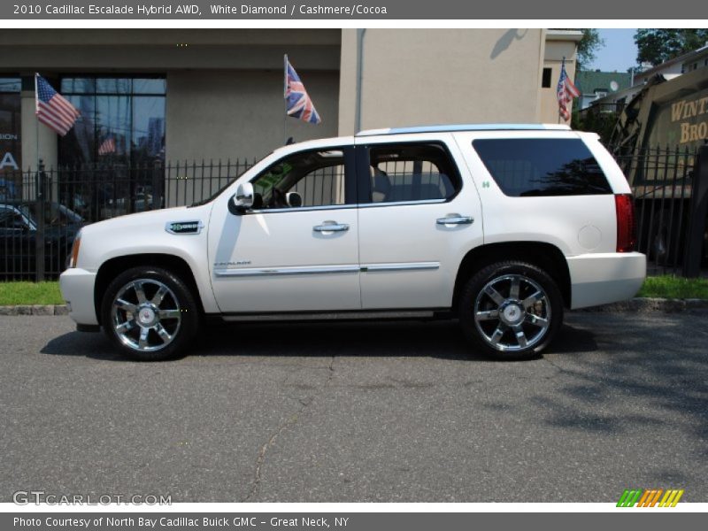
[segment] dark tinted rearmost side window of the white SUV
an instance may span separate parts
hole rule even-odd
[[[612,194],[602,168],[579,138],[489,138],[472,144],[507,196]]]

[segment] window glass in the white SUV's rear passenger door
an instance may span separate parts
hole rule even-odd
[[[459,189],[455,166],[443,146],[398,144],[369,150],[372,203],[449,199]]]

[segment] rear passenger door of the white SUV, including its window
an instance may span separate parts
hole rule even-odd
[[[448,308],[482,242],[481,205],[451,135],[357,138],[364,309]]]

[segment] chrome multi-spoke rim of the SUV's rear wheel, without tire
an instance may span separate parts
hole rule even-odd
[[[474,325],[492,349],[532,349],[550,327],[549,296],[524,275],[496,277],[485,284],[474,301]]]

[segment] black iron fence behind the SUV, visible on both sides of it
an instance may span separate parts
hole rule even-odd
[[[637,247],[649,258],[649,272],[696,276],[706,260],[708,146],[699,153],[652,148],[615,153],[615,158],[635,194]],[[158,162],[3,173],[0,281],[55,279],[65,269],[74,235],[83,225],[204,201],[255,162]]]

